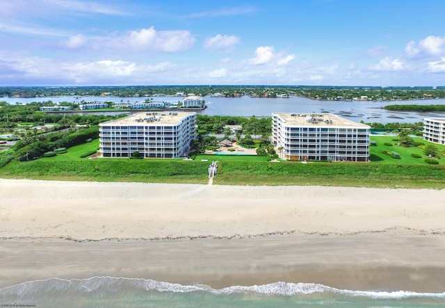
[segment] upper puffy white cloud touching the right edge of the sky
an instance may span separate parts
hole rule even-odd
[[[411,58],[441,56],[445,54],[445,37],[430,35],[417,44],[411,41],[406,44],[405,53]]]

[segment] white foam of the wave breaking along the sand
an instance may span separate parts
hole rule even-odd
[[[127,291],[157,291],[171,293],[205,292],[215,295],[252,294],[252,295],[309,295],[314,293],[332,293],[346,296],[360,296],[375,299],[407,299],[407,298],[436,298],[445,299],[445,293],[417,293],[412,291],[353,291],[335,289],[323,284],[275,282],[253,286],[229,286],[223,289],[212,289],[204,284],[172,284],[157,282],[152,279],[126,277],[91,277],[88,279],[60,279],[49,278],[24,282],[15,286],[0,289],[0,296],[17,296],[24,298],[35,294],[50,293],[96,293],[106,296],[108,293]]]

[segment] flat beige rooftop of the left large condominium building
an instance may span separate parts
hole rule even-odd
[[[99,126],[108,126],[113,124],[115,126],[143,126],[143,125],[172,125],[179,124],[181,120],[189,115],[195,115],[193,112],[141,112],[134,113],[128,117],[122,117],[118,120],[111,120],[103,122]]]

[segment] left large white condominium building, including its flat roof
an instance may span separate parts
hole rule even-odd
[[[196,113],[136,113],[99,124],[100,152],[104,157],[184,156],[196,136]]]

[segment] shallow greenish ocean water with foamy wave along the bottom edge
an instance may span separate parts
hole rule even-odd
[[[150,279],[51,278],[0,289],[1,307],[445,307],[445,293],[353,291],[322,284],[170,284]]]

